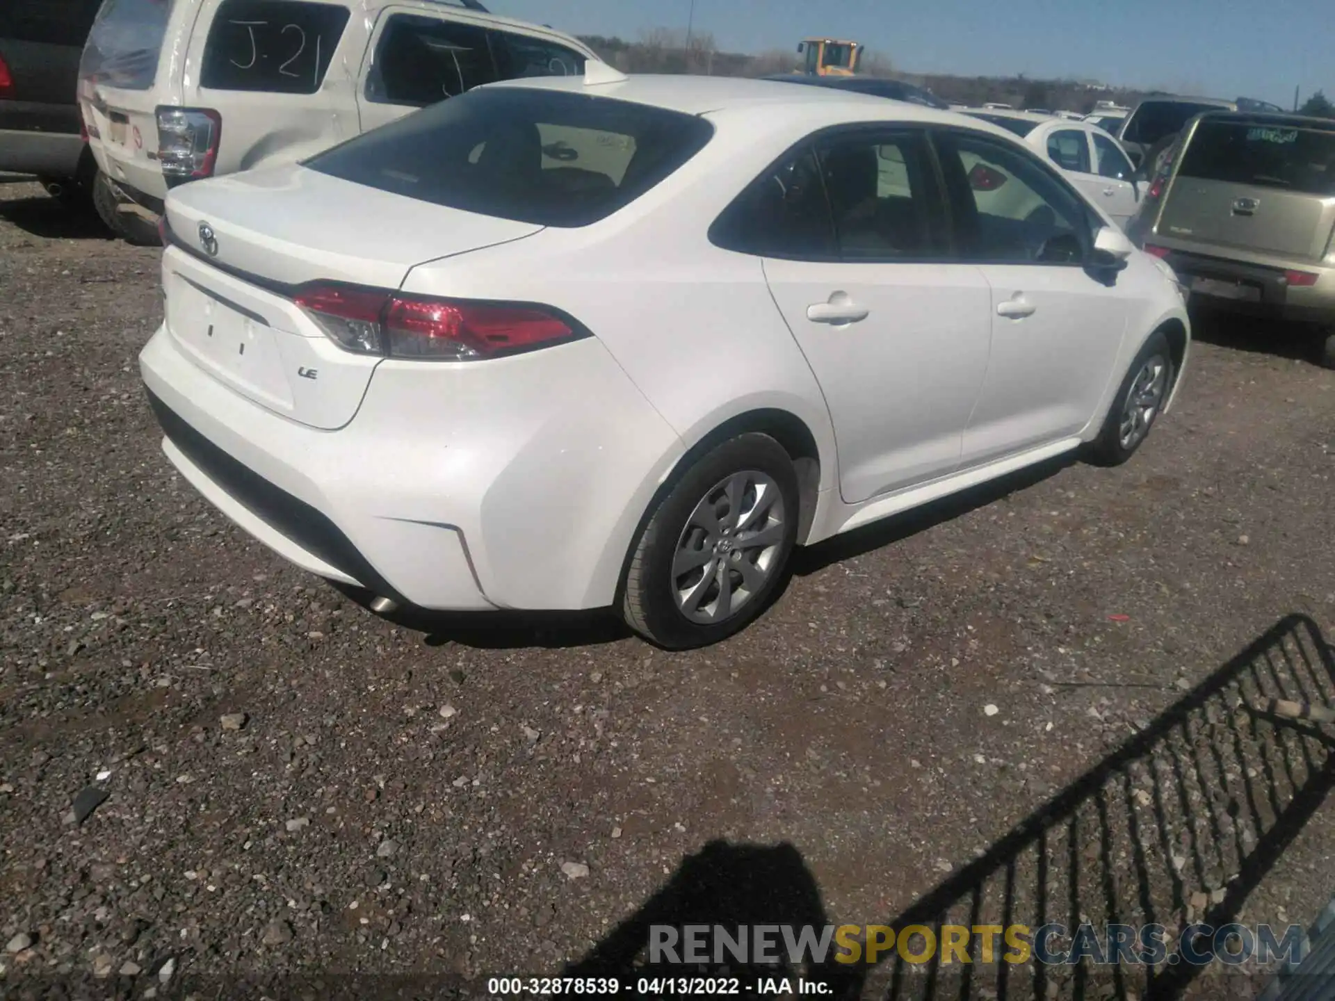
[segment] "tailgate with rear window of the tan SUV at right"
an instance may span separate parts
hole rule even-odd
[[[1203,120],[1187,141],[1157,232],[1319,260],[1335,227],[1335,132]]]

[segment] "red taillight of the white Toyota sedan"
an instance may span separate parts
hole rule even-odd
[[[303,286],[295,299],[334,343],[362,355],[471,362],[587,336],[575,320],[529,303],[400,296],[338,282]]]

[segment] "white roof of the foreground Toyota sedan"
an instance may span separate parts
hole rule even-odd
[[[502,80],[487,84],[487,87],[535,87],[597,97],[617,97],[637,104],[681,111],[688,115],[704,115],[705,112],[757,104],[825,104],[832,108],[834,105],[857,105],[858,108],[880,109],[881,113],[873,115],[873,117],[886,117],[886,108],[893,108],[894,116],[901,119],[956,120],[953,112],[908,101],[888,105],[885,97],[837,87],[792,87],[784,80],[750,80],[734,76],[635,73],[615,83],[591,85],[585,84],[581,76],[529,76],[518,80]]]

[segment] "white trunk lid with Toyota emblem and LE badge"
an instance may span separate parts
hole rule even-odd
[[[219,382],[292,420],[338,428],[379,355],[331,340],[295,302],[307,282],[398,288],[415,266],[542,227],[425,204],[299,165],[175,188],[167,328]]]

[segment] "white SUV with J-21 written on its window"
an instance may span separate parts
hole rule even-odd
[[[581,75],[589,59],[477,0],[105,0],[79,69],[99,211],[151,242],[178,184],[295,161],[479,84]]]

